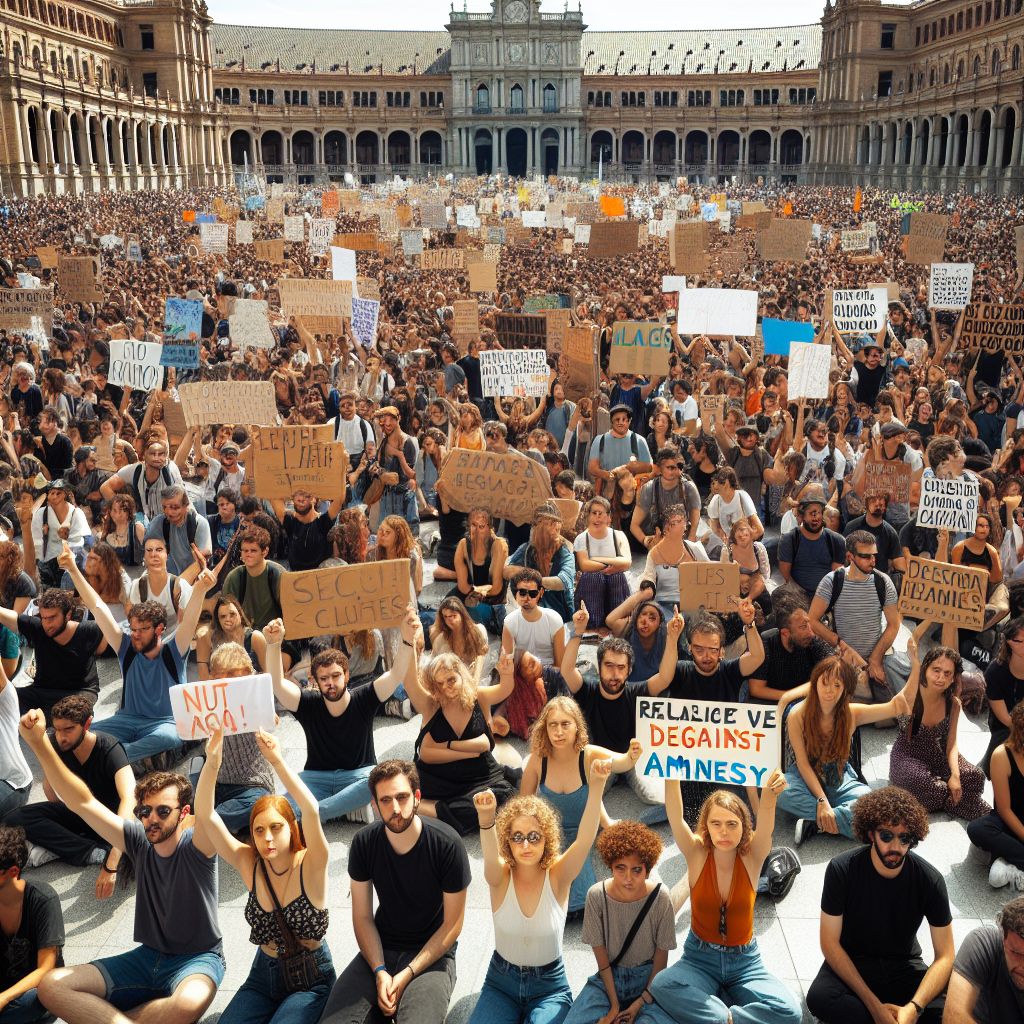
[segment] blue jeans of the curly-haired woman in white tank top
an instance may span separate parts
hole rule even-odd
[[[469,1024],[561,1024],[571,1006],[561,957],[544,967],[516,967],[495,952]]]

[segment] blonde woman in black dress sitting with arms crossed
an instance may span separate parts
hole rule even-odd
[[[512,658],[499,662],[500,683],[478,687],[457,654],[438,654],[419,678],[406,678],[409,698],[423,718],[416,737],[420,773],[420,813],[439,818],[460,836],[476,827],[473,797],[493,791],[499,803],[515,795],[519,772],[503,768],[494,756],[495,737],[481,703],[500,703],[512,692]],[[514,780],[514,782],[513,782]]]

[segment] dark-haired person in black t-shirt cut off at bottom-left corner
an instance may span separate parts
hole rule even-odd
[[[0,1009],[0,1020],[48,1024],[54,1017],[39,1001],[36,986],[63,966],[63,913],[50,886],[22,878],[28,855],[22,829],[0,825],[0,918],[18,923],[13,935],[3,933],[0,992],[10,998]]]

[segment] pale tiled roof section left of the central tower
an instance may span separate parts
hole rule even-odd
[[[281,60],[283,72],[348,70],[353,75],[371,74],[381,65],[385,75],[446,75],[452,41],[441,32],[386,32],[349,29],[264,29],[247,25],[210,27],[213,67],[226,68],[245,57],[246,68]],[[305,68],[298,69],[298,65]]]

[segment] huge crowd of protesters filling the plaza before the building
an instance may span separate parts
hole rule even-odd
[[[973,263],[971,301],[1017,302],[1024,204],[682,180],[355,186],[331,216],[377,238],[356,255],[358,294],[379,301],[368,335],[282,308],[279,282],[330,278],[330,254],[260,258],[233,237],[204,251],[207,214],[249,220],[256,242],[281,237],[271,206],[322,216],[319,186],[240,185],[0,210],[0,323],[6,290],[54,288],[52,323],[0,327],[0,1024],[200,1020],[238,918],[218,906],[218,858],[248,891],[257,947],[222,1020],[440,1024],[467,955],[467,839],[494,916],[473,1024],[787,1024],[804,1004],[831,1024],[1024,1021],[1024,369],[1012,343],[973,348],[964,312],[929,307],[905,240],[910,207],[945,216],[943,258]],[[519,220],[567,204],[603,220],[618,202],[646,229],[607,258],[571,227]],[[804,258],[764,259],[744,203],[817,225]],[[677,333],[687,289],[663,292],[675,268],[654,225],[708,220],[710,204],[731,222],[688,287],[756,291],[759,321],[812,325],[826,397],[793,396],[790,360],[757,336]],[[404,255],[394,224],[419,227],[428,205],[450,218],[417,232],[428,252],[500,245],[497,291],[471,290],[461,259]],[[462,226],[467,207],[479,227]],[[845,251],[842,232],[868,224],[870,249]],[[72,255],[100,259],[93,301],[61,280]],[[878,283],[882,329],[841,335],[830,293]],[[499,316],[537,296],[592,330],[590,393],[558,351],[543,396],[483,393]],[[164,340],[169,298],[202,303],[198,367],[148,390],[112,382],[112,343]],[[267,301],[270,344],[232,337],[240,299]],[[609,373],[624,321],[666,326],[664,376]],[[202,381],[271,382],[280,424],[183,426],[177,388]],[[344,441],[343,479],[261,495],[260,428],[322,424]],[[525,521],[500,499],[466,507],[443,473],[460,450],[530,460],[551,499]],[[905,490],[872,484],[904,467]],[[973,531],[919,522],[930,477],[977,485]],[[904,620],[919,558],[985,573],[980,629]],[[394,560],[400,625],[289,636],[285,572]],[[693,609],[691,563],[736,566],[738,593]],[[100,669],[121,680],[102,718]],[[301,728],[301,770],[272,731],[179,737],[171,687],[254,674]],[[757,787],[648,773],[643,697],[773,708],[780,764]],[[986,713],[974,764],[957,725]],[[378,758],[382,716],[419,722],[400,757]],[[871,725],[891,730],[884,785],[862,770]],[[633,813],[612,820],[620,780]],[[796,850],[773,848],[778,811],[796,849],[855,844],[825,872],[806,1000],[758,948],[759,894],[801,884]],[[975,869],[1009,887],[997,924],[958,942],[946,881],[914,852],[934,815],[962,821]],[[345,860],[329,863],[339,827]],[[685,860],[671,891],[670,833]],[[59,897],[33,878],[56,859],[88,868],[97,900],[134,887],[129,951],[65,964]],[[328,893],[346,873],[358,952],[335,965]],[[594,952],[579,991],[569,921]]]

